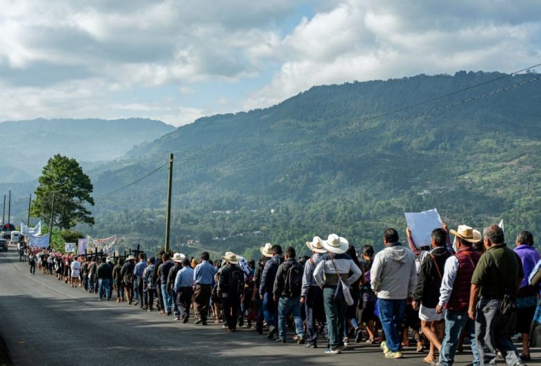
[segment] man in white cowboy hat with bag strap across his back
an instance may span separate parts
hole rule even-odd
[[[336,234],[329,235],[329,238],[323,242],[323,248],[327,250],[314,269],[314,278],[323,289],[323,306],[327,317],[327,327],[329,328],[329,348],[325,350],[327,354],[341,353],[343,346],[345,311],[347,304],[340,281],[345,285],[351,285],[363,272],[352,260],[345,254],[350,244]],[[347,278],[347,276],[352,275]]]

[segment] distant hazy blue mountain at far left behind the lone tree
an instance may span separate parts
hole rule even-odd
[[[47,160],[60,153],[83,167],[123,156],[134,145],[151,142],[175,128],[152,119],[33,119],[2,122],[0,182],[21,182],[40,175]]]

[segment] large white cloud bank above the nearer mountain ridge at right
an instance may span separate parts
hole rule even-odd
[[[541,19],[531,12],[541,3],[519,3],[344,1],[275,45],[282,66],[244,106],[270,106],[312,85],[535,65]]]

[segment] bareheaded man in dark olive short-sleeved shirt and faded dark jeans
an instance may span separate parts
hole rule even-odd
[[[511,337],[515,333],[516,311],[502,315],[500,304],[516,297],[524,278],[522,262],[504,240],[504,231],[497,225],[483,231],[486,253],[475,267],[467,313],[475,319],[475,334],[481,365],[496,363],[496,349],[507,365],[524,365]],[[477,297],[481,299],[476,304]],[[512,301],[511,301],[512,302]],[[515,303],[516,306],[516,303]]]

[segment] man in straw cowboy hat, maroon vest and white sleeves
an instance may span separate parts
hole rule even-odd
[[[474,251],[473,243],[481,240],[481,233],[470,226],[458,225],[451,230],[456,238],[456,253],[445,261],[443,279],[440,287],[440,299],[436,312],[445,312],[445,338],[441,343],[440,361],[433,365],[451,366],[458,346],[458,338],[466,330],[467,338],[472,342],[473,365],[479,365],[479,351],[475,342],[475,324],[467,316],[470,303],[470,283],[474,269],[481,258],[481,253]]]

